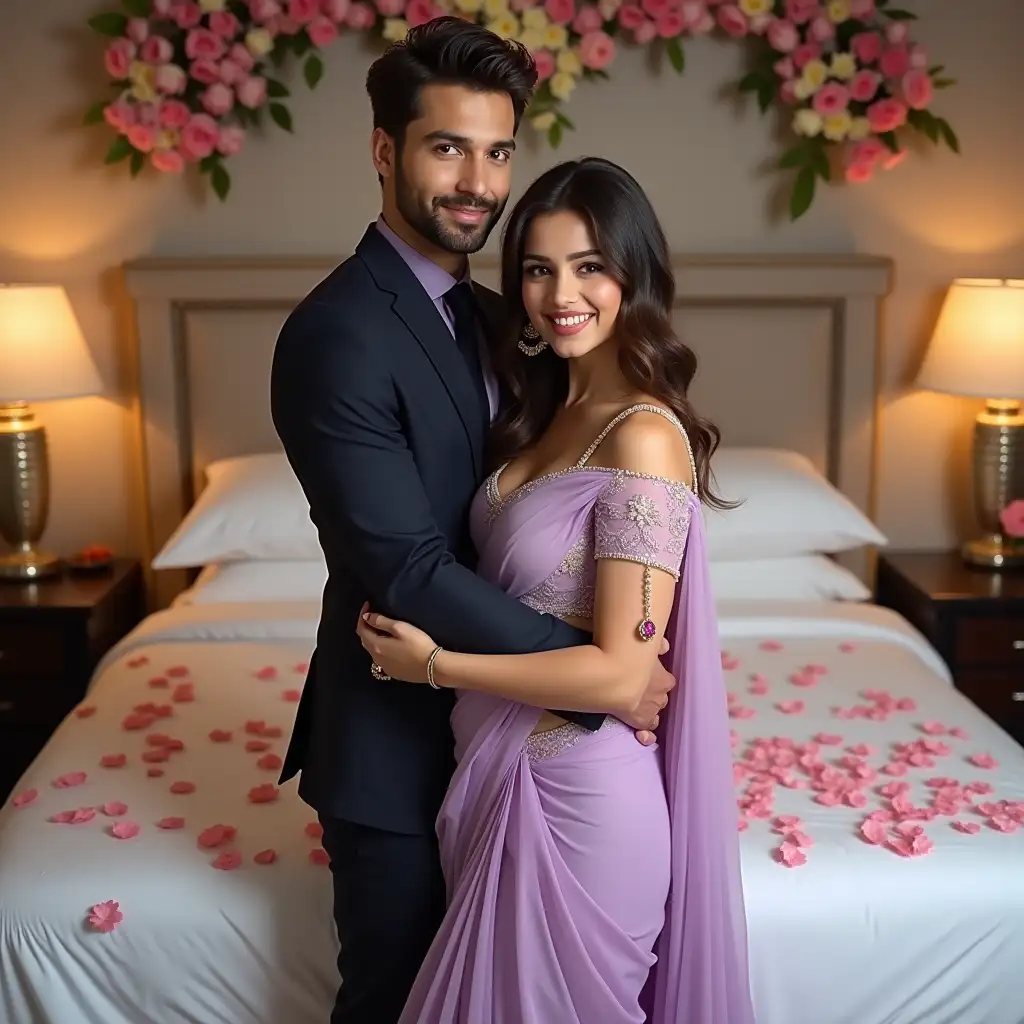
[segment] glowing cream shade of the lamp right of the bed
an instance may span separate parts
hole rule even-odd
[[[918,386],[976,398],[1024,398],[1024,281],[954,281]]]

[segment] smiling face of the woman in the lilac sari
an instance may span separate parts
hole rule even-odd
[[[586,355],[611,337],[623,290],[606,266],[590,225],[578,214],[543,214],[529,225],[522,304],[541,337],[564,359]]]

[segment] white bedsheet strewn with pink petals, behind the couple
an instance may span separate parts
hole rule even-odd
[[[994,793],[976,803],[1024,800],[1024,751],[949,685],[942,663],[902,620],[869,605],[765,608],[721,607],[726,680],[736,708],[755,711],[733,720],[737,760],[758,737],[806,742],[828,732],[843,743],[824,755],[869,743],[879,753],[865,760],[878,767],[889,744],[934,738],[952,753],[902,779],[916,805],[926,803],[923,781],[936,776],[991,783]],[[262,752],[244,750],[257,738],[246,722],[262,720],[281,728],[269,750],[284,753],[295,703],[283,693],[301,686],[295,667],[311,650],[317,613],[317,605],[298,603],[178,607],[147,618],[104,659],[85,701],[96,712],[69,718],[30,768],[15,793],[35,788],[35,801],[0,811],[0,1020],[326,1024],[336,945],[329,869],[309,860],[318,844],[304,829],[313,815],[292,783],[271,803],[250,803],[249,791],[272,783],[276,770],[257,767]],[[763,649],[766,640],[781,646]],[[146,664],[135,664],[141,657]],[[809,664],[826,670],[816,685],[788,681]],[[195,701],[171,699],[179,679],[168,689],[147,685],[174,666],[188,669]],[[276,672],[259,678],[261,669]],[[767,693],[748,692],[754,674]],[[865,689],[912,698],[916,709],[888,721],[834,716],[833,708],[864,705],[858,694]],[[774,707],[791,699],[805,710]],[[148,701],[171,703],[173,715],[125,730],[133,707]],[[927,736],[920,726],[928,721],[961,726],[969,738]],[[232,731],[230,741],[209,738],[218,728]],[[184,750],[143,764],[154,731]],[[119,753],[127,755],[124,767],[99,766],[103,755]],[[998,766],[965,760],[980,753]],[[165,774],[148,777],[148,768]],[[84,784],[51,784],[75,771],[87,773]],[[175,780],[195,782],[195,793],[172,794]],[[759,1024],[1024,1021],[1024,828],[1002,834],[965,813],[959,820],[982,827],[964,835],[940,817],[924,823],[934,851],[900,857],[857,834],[868,811],[888,806],[874,791],[892,780],[881,776],[865,787],[862,809],[823,807],[812,791],[776,787],[772,814],[799,815],[814,841],[803,866],[777,862],[781,837],[771,819],[751,819],[742,833]],[[127,813],[100,811],[82,824],[47,820],[112,801],[127,804]],[[184,817],[184,827],[158,828],[167,816]],[[140,824],[135,838],[108,834],[123,820]],[[199,848],[200,833],[214,824],[236,826],[234,841]],[[265,849],[278,860],[254,863]],[[242,854],[240,867],[212,866],[225,850]],[[85,920],[109,899],[120,902],[124,921],[103,934]]]

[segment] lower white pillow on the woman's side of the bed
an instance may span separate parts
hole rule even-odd
[[[866,601],[871,592],[824,555],[712,562],[717,601]]]

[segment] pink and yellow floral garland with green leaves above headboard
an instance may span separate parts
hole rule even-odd
[[[915,15],[890,0],[122,0],[89,25],[113,37],[104,63],[117,94],[86,114],[117,132],[105,161],[165,173],[187,165],[226,198],[225,162],[264,115],[285,131],[288,87],[273,72],[302,62],[324,75],[321,50],[343,31],[402,39],[411,26],[454,13],[518,39],[537,61],[528,111],[557,146],[573,128],[562,105],[582,80],[604,79],[620,42],[655,46],[680,74],[683,40],[722,32],[750,38],[753,70],[738,83],[764,114],[776,106],[796,142],[778,162],[794,175],[793,219],[818,180],[864,182],[907,154],[912,133],[954,153],[949,123],[930,110],[952,85],[909,38]]]

